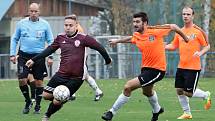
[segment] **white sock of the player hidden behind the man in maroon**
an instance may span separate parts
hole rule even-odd
[[[102,91],[99,89],[98,85],[96,84],[95,79],[93,79],[93,77],[88,76],[88,79],[86,80],[86,82],[90,85],[90,87],[95,91],[95,94],[101,94]]]

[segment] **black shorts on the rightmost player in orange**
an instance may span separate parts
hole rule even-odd
[[[186,92],[194,92],[198,85],[201,70],[177,69],[175,88],[182,88]]]

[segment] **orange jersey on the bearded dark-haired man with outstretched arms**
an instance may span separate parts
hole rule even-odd
[[[147,29],[144,34],[133,34],[131,42],[136,44],[142,53],[142,67],[166,71],[163,37],[169,32],[170,29]]]

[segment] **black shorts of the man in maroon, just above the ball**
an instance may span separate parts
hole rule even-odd
[[[70,96],[72,96],[82,85],[84,80],[82,78],[63,78],[55,74],[44,88],[45,92],[53,93],[54,89],[59,85],[65,85],[69,88]]]

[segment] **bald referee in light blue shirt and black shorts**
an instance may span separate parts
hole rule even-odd
[[[34,107],[34,113],[38,114],[40,113],[41,94],[43,92],[43,70],[45,67],[45,59],[36,61],[31,69],[25,66],[25,63],[33,56],[41,53],[45,48],[45,43],[47,42],[50,45],[54,38],[48,22],[39,17],[39,4],[30,4],[28,13],[29,17],[26,17],[17,23],[15,33],[11,38],[10,60],[13,63],[16,63],[16,47],[19,42],[20,49],[18,52],[19,57],[17,65],[18,79],[20,90],[26,102],[23,114],[28,114],[32,106],[27,85],[27,77],[30,71],[32,71],[36,83],[36,105]],[[52,64],[52,62],[53,60],[49,58],[48,65]]]

